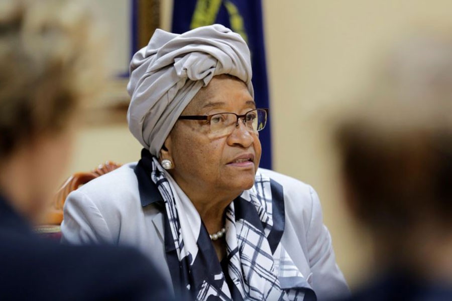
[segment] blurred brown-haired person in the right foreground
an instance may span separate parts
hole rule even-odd
[[[411,40],[336,131],[346,200],[374,244],[352,300],[452,300],[452,43]]]

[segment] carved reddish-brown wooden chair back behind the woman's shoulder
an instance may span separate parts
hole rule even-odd
[[[70,176],[54,196],[52,204],[46,212],[43,225],[35,227],[35,231],[43,236],[59,238],[61,236],[59,225],[63,221],[63,206],[69,193],[92,179],[114,171],[119,167],[121,167],[121,164],[107,161],[91,172],[75,173]]]

